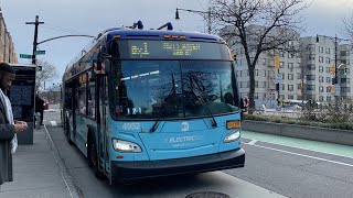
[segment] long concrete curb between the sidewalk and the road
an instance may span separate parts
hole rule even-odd
[[[54,144],[54,142],[53,142],[53,140],[52,140],[46,127],[45,125],[43,125],[43,127],[45,129],[45,135],[46,135],[47,142],[49,142],[49,144],[51,146],[53,156],[55,158],[55,163],[57,164],[57,166],[58,166],[58,168],[61,170],[61,175],[62,175],[62,177],[63,177],[63,179],[65,182],[65,186],[66,186],[66,188],[67,188],[67,190],[69,193],[71,198],[83,198],[84,196],[79,193],[77,186],[74,183],[73,177],[69,175],[66,166],[64,165],[62,158],[60,157],[60,154],[58,154],[58,152],[56,150],[56,146],[55,146],[55,144]]]

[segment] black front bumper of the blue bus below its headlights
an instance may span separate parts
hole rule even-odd
[[[245,151],[243,148],[176,160],[142,162],[114,161],[111,162],[111,177],[114,180],[133,180],[150,177],[237,168],[244,167],[244,164]]]

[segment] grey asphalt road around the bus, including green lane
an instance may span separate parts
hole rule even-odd
[[[353,197],[352,147],[252,132],[243,135],[244,168],[108,185],[96,179],[84,155],[67,144],[58,111],[52,108],[44,113],[44,123],[84,197],[185,197],[196,191],[231,197]]]

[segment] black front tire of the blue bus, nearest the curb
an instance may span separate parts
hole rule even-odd
[[[98,152],[95,141],[93,141],[92,134],[88,133],[88,146],[87,146],[88,165],[93,168],[95,176],[98,179],[104,179],[104,174],[99,170]]]

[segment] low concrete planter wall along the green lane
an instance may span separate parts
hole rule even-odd
[[[309,125],[297,125],[286,123],[272,123],[254,120],[242,122],[244,130],[269,133],[276,135],[291,136],[298,139],[330,142],[344,145],[353,145],[353,131],[317,128]]]

